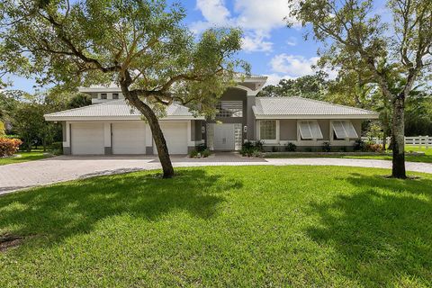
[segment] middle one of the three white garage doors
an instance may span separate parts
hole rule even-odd
[[[146,154],[146,123],[112,123],[112,154]]]

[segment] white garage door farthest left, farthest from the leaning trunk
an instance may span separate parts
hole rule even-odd
[[[104,154],[103,123],[72,123],[71,144],[74,155]]]

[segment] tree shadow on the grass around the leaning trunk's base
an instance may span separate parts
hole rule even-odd
[[[159,220],[170,211],[211,218],[224,192],[242,186],[204,170],[182,170],[174,179],[155,173],[96,177],[0,197],[0,233],[40,235],[51,241],[93,229],[98,220],[129,213]],[[14,227],[13,231],[4,231]],[[2,231],[3,230],[3,231]]]

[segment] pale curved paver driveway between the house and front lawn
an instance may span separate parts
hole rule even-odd
[[[359,166],[392,168],[386,160],[350,158],[248,158],[235,153],[220,153],[208,158],[172,157],[179,166],[247,166],[247,165],[311,165]],[[407,162],[408,171],[432,174],[432,164]],[[112,175],[160,168],[157,157],[67,157],[59,156],[39,161],[0,166],[0,194],[45,184],[53,184],[95,175]]]

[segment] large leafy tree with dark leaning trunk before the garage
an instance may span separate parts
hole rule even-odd
[[[1,67],[76,85],[120,85],[152,131],[164,177],[174,169],[158,117],[174,101],[212,115],[232,85],[241,31],[210,29],[198,40],[179,4],[163,0],[8,0],[2,3]]]

